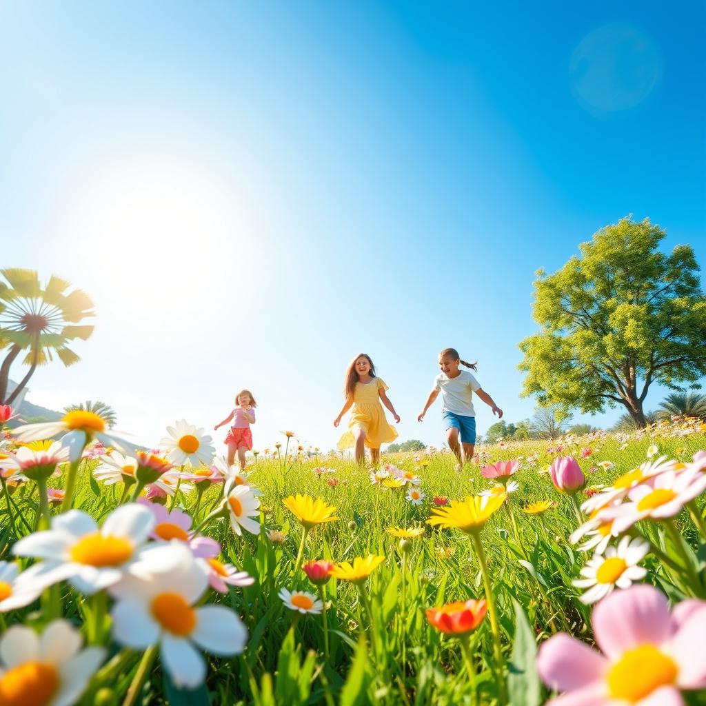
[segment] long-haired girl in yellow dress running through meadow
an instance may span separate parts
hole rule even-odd
[[[349,410],[348,431],[338,442],[338,448],[355,448],[355,460],[363,465],[365,462],[365,447],[370,449],[373,464],[380,462],[380,445],[395,441],[397,430],[385,419],[383,405],[400,423],[400,415],[395,412],[393,403],[385,395],[385,385],[382,378],[375,375],[375,366],[369,355],[361,353],[355,357],[346,371],[346,385],[343,395],[346,399],[341,413],[333,421],[333,426],[341,423],[341,417]],[[380,404],[382,400],[383,405]]]

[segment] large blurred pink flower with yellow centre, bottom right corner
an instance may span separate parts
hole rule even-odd
[[[670,614],[656,588],[633,586],[603,599],[592,626],[603,654],[566,633],[539,650],[539,675],[564,692],[554,706],[683,706],[681,690],[706,688],[706,602]]]

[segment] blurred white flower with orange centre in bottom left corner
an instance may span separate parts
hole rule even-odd
[[[105,656],[87,647],[64,620],[52,621],[41,637],[31,628],[13,626],[0,640],[0,698],[11,706],[71,706],[78,703]]]

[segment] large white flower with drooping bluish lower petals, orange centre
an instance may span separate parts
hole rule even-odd
[[[112,587],[113,637],[135,650],[160,646],[160,658],[177,686],[203,683],[206,665],[198,648],[229,656],[245,647],[247,630],[225,606],[194,604],[208,577],[184,544],[146,550],[131,573]]]

